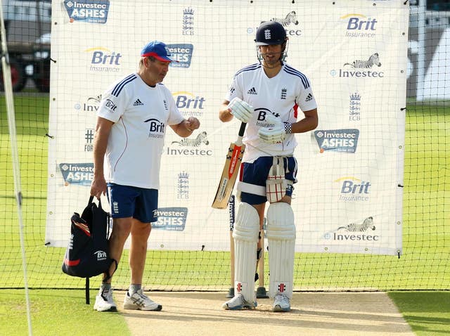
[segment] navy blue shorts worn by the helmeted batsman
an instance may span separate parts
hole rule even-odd
[[[297,160],[295,157],[283,157],[285,179],[297,182]],[[253,163],[244,162],[240,166],[240,181],[255,184],[257,186],[266,187],[267,176],[269,176],[269,170],[274,164],[274,157],[262,156],[258,157]],[[286,188],[286,195],[292,197],[294,187],[292,184],[288,184]],[[267,202],[266,196],[255,195],[251,193],[240,193],[241,202],[248,203],[250,205],[262,204]]]

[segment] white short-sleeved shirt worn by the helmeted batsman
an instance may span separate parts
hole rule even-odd
[[[298,108],[302,111],[317,108],[309,79],[302,72],[284,64],[275,77],[266,76],[260,63],[248,65],[236,72],[226,100],[238,97],[255,108],[245,129],[243,162],[254,162],[261,156],[292,155],[297,141],[294,134],[286,136],[283,143],[269,144],[258,137],[262,127],[274,127],[266,122],[271,113],[281,122],[297,122]],[[303,116],[300,117],[302,119]]]

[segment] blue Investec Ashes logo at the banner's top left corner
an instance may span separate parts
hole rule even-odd
[[[70,22],[106,23],[110,8],[109,0],[65,0],[65,10]]]

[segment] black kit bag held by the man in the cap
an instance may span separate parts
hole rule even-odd
[[[63,272],[69,276],[86,278],[86,304],[89,304],[89,278],[101,273],[109,274],[110,266],[117,261],[108,254],[108,235],[110,215],[93,202],[94,196],[89,198],[88,205],[80,217],[75,212],[70,219],[70,240],[65,251]]]

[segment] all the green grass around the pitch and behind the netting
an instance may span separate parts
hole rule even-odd
[[[0,311],[0,316],[11,314],[10,321],[13,322],[2,323],[0,335],[15,335],[11,333],[12,326],[22,332],[17,335],[24,335],[23,291],[11,290],[23,287],[23,270],[15,195],[11,191],[14,185],[3,100],[0,97],[0,204],[6,211],[0,213],[0,287],[8,290],[0,290],[0,300],[10,300],[13,304],[2,304],[2,309],[8,311]],[[89,323],[94,318],[91,306],[84,304],[82,290],[53,290],[82,289],[84,281],[65,276],[60,271],[64,249],[44,246],[48,106],[49,97],[46,95],[25,93],[15,96],[28,283],[36,288],[31,291],[36,335],[51,335],[45,329],[46,325],[58,325],[58,321],[64,321],[67,327],[74,323],[76,327],[79,321]],[[446,112],[439,106],[408,106],[404,161],[404,256],[397,259],[359,254],[297,254],[295,283],[301,285],[302,290],[340,290],[342,287],[386,291],[449,290],[450,230],[444,224],[450,220],[450,174],[447,168],[450,167],[450,115]],[[122,260],[127,260],[127,251]],[[153,290],[171,290],[180,286],[226,290],[229,287],[229,253],[150,250],[146,277],[146,283]],[[122,265],[115,276],[115,284],[124,287],[128,279],[127,267]],[[267,280],[266,275],[266,283]],[[91,280],[94,287],[98,282],[97,278]],[[48,288],[52,290],[46,290]],[[67,292],[69,297],[63,294]],[[418,335],[450,332],[449,306],[446,304],[450,302],[449,292],[401,291],[390,292],[390,297]],[[446,299],[444,304],[443,299]],[[40,314],[45,314],[46,318]],[[74,314],[77,314],[76,318]],[[96,324],[105,327],[115,323],[119,325],[117,330],[122,330],[120,316],[105,316],[105,321],[92,321],[87,325],[89,328]],[[98,330],[96,335],[102,335],[101,332]],[[71,332],[71,335],[77,334]],[[117,335],[127,335],[127,332]]]

